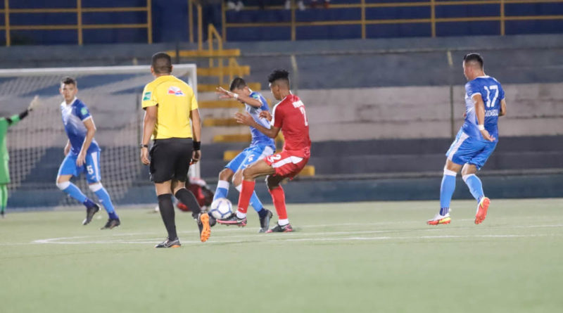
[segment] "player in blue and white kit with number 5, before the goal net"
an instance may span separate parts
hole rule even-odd
[[[65,77],[61,81],[61,95],[64,98],[61,103],[61,113],[68,141],[65,146],[65,160],[58,169],[56,185],[68,196],[75,198],[86,206],[86,219],[83,225],[91,222],[94,214],[100,210],[99,205],[90,200],[70,179],[86,174],[86,181],[91,191],[96,193],[100,203],[109,215],[108,222],[101,229],[113,229],[121,224],[115,213],[108,191],[100,182],[100,147],[94,139],[96,126],[86,105],[76,98],[78,92],[76,80]]]

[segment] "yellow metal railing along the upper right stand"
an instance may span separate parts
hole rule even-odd
[[[394,3],[366,3],[366,0],[359,0],[358,4],[331,4],[329,10],[339,8],[360,8],[361,14],[358,20],[324,20],[302,22],[296,19],[296,4],[291,1],[291,20],[289,22],[270,22],[270,23],[227,23],[227,8],[222,4],[222,34],[223,39],[227,40],[227,28],[235,27],[291,27],[291,40],[296,40],[297,27],[302,26],[329,26],[329,25],[361,25],[362,39],[366,38],[366,25],[381,24],[409,24],[409,23],[429,23],[431,25],[431,37],[436,37],[437,23],[453,23],[453,22],[482,22],[482,21],[498,21],[500,23],[500,35],[505,35],[505,23],[514,20],[563,20],[563,15],[509,15],[505,14],[505,5],[507,4],[548,4],[563,3],[563,0],[429,0],[420,2],[394,2]],[[472,16],[463,18],[436,18],[436,7],[438,6],[476,6],[483,4],[498,4],[500,11],[498,15]],[[405,7],[429,7],[430,13],[427,18],[402,18],[402,19],[367,19],[367,8],[405,8]],[[269,6],[265,10],[283,10],[283,6]],[[260,10],[258,6],[247,6],[243,10],[255,11]]]

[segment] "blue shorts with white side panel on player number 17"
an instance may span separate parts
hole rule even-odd
[[[475,165],[477,170],[481,170],[488,157],[495,151],[496,146],[497,141],[491,142],[474,139],[460,130],[445,156],[456,164],[464,165],[469,163]]]

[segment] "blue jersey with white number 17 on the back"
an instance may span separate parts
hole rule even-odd
[[[500,113],[500,101],[505,98],[500,82],[490,76],[480,76],[465,84],[465,122],[462,126],[463,132],[474,139],[485,140],[477,126],[477,115],[473,96],[481,94],[485,104],[485,129],[498,141],[498,113]]]

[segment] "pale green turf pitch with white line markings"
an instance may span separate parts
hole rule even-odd
[[[560,312],[563,199],[289,205],[291,234],[213,227],[200,243],[177,212],[182,248],[148,207],[11,213],[0,220],[0,312]],[[275,217],[274,217],[275,219]]]

